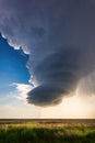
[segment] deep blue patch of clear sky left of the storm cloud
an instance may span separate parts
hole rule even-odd
[[[0,35],[0,94],[12,90],[12,84],[28,84],[29,74],[26,68],[28,55],[22,50],[14,51],[7,40]]]

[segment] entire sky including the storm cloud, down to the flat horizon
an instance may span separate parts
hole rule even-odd
[[[0,0],[0,118],[95,118],[94,16],[93,0]]]

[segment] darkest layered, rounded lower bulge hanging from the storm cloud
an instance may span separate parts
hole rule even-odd
[[[75,91],[79,80],[88,75],[92,62],[84,66],[86,53],[84,48],[61,47],[47,56],[34,68],[33,75],[39,84],[28,92],[28,103],[36,106],[54,106],[61,102],[62,97]]]

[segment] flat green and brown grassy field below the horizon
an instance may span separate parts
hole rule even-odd
[[[95,120],[0,120],[0,143],[95,143]]]

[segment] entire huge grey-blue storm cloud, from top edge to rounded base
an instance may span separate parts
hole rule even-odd
[[[29,55],[28,103],[57,105],[84,78],[87,87],[95,70],[94,16],[93,0],[0,0],[2,36]]]

